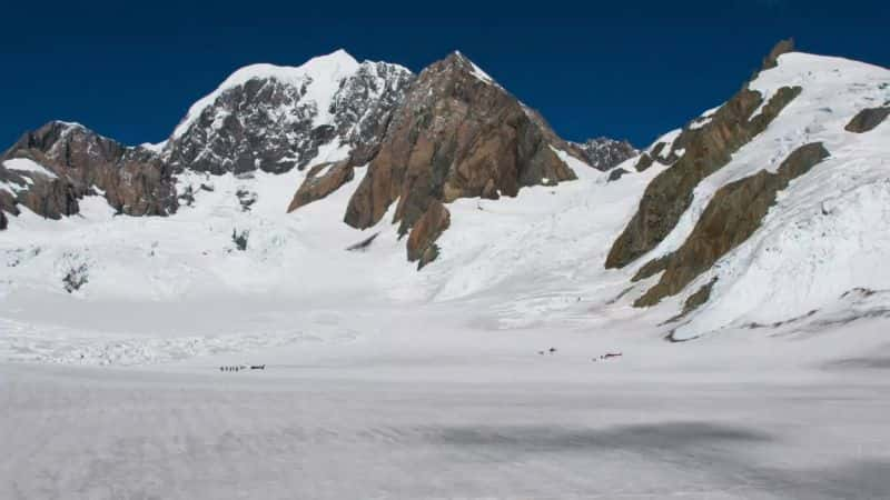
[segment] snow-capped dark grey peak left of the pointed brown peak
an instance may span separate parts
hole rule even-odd
[[[413,79],[406,68],[358,63],[343,50],[299,67],[249,66],[191,107],[165,156],[177,169],[211,173],[303,169],[325,147],[362,161]]]

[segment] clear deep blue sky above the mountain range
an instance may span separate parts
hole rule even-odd
[[[458,49],[566,139],[646,146],[731,96],[771,46],[890,66],[890,1],[8,2],[0,149],[51,119],[135,144],[254,62],[344,48],[419,71]]]

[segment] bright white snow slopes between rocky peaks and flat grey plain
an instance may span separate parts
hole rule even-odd
[[[353,68],[344,53],[323,60]],[[887,294],[842,296],[890,289],[883,266],[890,128],[856,134],[843,126],[858,110],[890,99],[888,70],[789,53],[751,83],[768,97],[787,84],[803,92],[702,181],[674,231],[639,262],[682,244],[720,187],[775,169],[808,142],[824,142],[831,158],[780,193],[749,241],[657,307],[631,306],[657,277],[632,283],[633,266],[603,269],[646,184],[668,168],[657,162],[636,172],[637,159],[629,159],[620,167],[630,173],[609,182],[560,151],[576,181],[448,204],[452,227],[438,241],[441,256],[421,272],[406,261],[392,213],[365,231],[342,222],[356,180],[287,214],[303,171],[186,171],[178,191],[191,188],[194,203],[169,218],[115,217],[98,197],[61,221],[27,210],[10,218],[10,229],[0,232],[0,352],[17,360],[158,363],[307,340],[352,342],[387,331],[405,311],[422,322],[444,314],[456,331],[623,331],[627,341],[644,342],[673,329],[679,339],[716,330],[753,337],[818,330],[839,308],[880,316],[890,306]],[[334,141],[310,164],[346,154],[348,146]],[[364,251],[346,250],[376,233]],[[239,237],[247,240],[243,251]],[[69,293],[63,280],[72,271],[87,281]],[[682,324],[664,324],[713,277],[705,306]]]

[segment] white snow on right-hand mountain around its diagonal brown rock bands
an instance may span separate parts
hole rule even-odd
[[[890,288],[883,264],[890,258],[890,127],[867,133],[844,130],[860,110],[890,101],[890,71],[788,53],[750,88],[769,99],[784,86],[803,91],[728,166],[696,187],[678,227],[641,261],[679,248],[723,186],[762,169],[775,171],[807,143],[822,142],[831,158],[792,181],[761,229],[688,287],[694,291],[718,278],[709,303],[679,329],[680,339],[728,326],[788,321],[829,307],[858,287]]]

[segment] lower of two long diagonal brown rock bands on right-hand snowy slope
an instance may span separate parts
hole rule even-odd
[[[664,297],[680,292],[760,228],[779,191],[828,157],[822,143],[813,142],[794,150],[775,173],[761,170],[721,188],[683,246],[653,264],[664,273],[634,306],[653,306]]]

